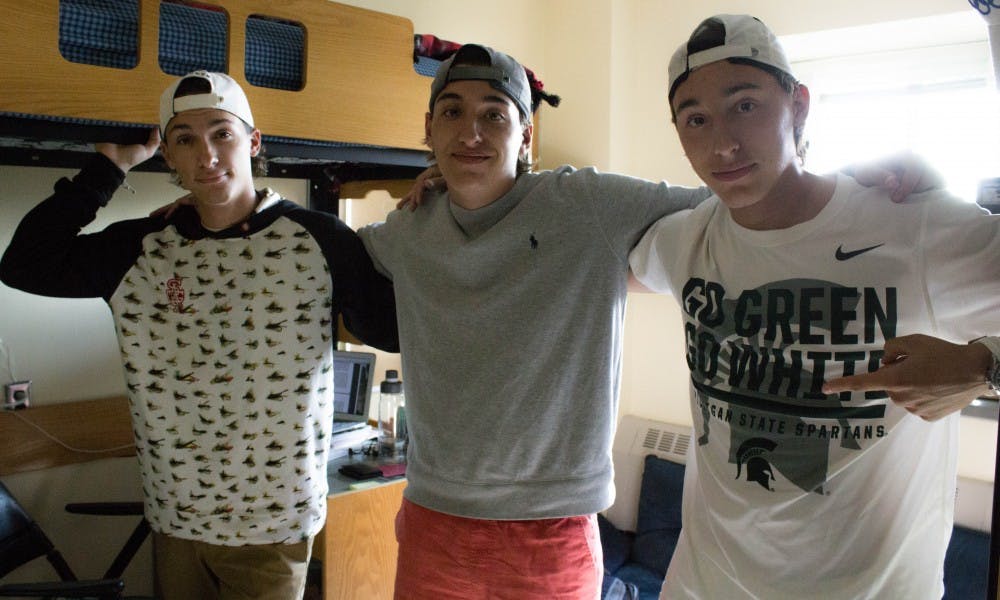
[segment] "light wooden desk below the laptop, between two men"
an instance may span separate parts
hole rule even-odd
[[[337,472],[350,458],[330,461],[326,526],[313,553],[323,561],[326,600],[391,600],[396,579],[396,513],[403,500],[403,478],[373,479],[374,487],[351,490],[355,480]]]

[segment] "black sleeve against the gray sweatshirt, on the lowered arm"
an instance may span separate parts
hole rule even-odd
[[[330,265],[334,322],[340,314],[347,329],[364,343],[399,352],[392,282],[375,270],[361,238],[332,214],[301,214],[299,222],[317,236]]]

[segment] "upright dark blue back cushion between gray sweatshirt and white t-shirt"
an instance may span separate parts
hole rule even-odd
[[[632,559],[659,573],[667,573],[681,533],[681,496],[684,465],[650,454],[646,457],[639,491]]]

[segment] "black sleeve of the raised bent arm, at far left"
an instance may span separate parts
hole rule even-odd
[[[72,180],[24,216],[0,259],[0,281],[32,294],[111,297],[141,247],[143,221],[115,223],[81,235],[121,185],[124,173],[96,154]]]

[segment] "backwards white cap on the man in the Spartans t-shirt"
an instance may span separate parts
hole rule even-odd
[[[669,98],[687,75],[705,65],[742,58],[792,76],[792,65],[778,38],[764,23],[750,15],[715,15],[701,22],[670,59]]]

